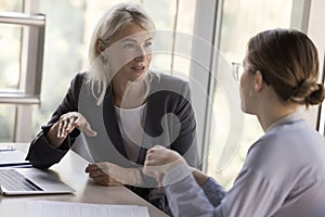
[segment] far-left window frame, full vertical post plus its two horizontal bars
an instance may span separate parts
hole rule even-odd
[[[18,89],[0,90],[1,104],[16,105],[14,142],[30,141],[32,105],[40,104],[46,34],[46,15],[38,13],[39,0],[22,1],[22,13],[0,14],[0,23],[23,26]]]

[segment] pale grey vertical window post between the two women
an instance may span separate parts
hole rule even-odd
[[[212,113],[212,94],[214,89],[211,75],[216,55],[216,26],[220,22],[220,2],[222,0],[198,1],[194,21],[194,38],[192,44],[192,61],[190,69],[190,86],[192,102],[197,122],[197,143],[200,157],[200,169],[206,170],[209,150],[210,117]],[[202,25],[205,24],[205,25]],[[198,63],[198,64],[197,64]]]

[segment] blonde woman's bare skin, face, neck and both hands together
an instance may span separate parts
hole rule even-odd
[[[98,40],[96,48],[101,55],[109,60],[113,72],[114,104],[119,107],[138,107],[142,105],[146,95],[143,89],[143,78],[148,72],[152,61],[152,35],[138,24],[130,23],[121,28],[105,46]],[[95,137],[90,124],[78,112],[62,115],[47,135],[47,139],[54,148],[60,148],[66,137],[75,129],[83,131],[89,137]],[[133,168],[122,168],[109,162],[90,164],[86,173],[98,184],[121,186],[141,184],[140,171]]]

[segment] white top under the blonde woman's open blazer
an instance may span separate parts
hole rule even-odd
[[[115,112],[128,157],[136,162],[143,140],[146,103],[134,108],[115,105]]]

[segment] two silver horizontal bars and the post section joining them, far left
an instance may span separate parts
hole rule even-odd
[[[22,25],[21,72],[17,90],[0,89],[0,103],[39,104],[44,49],[46,15],[18,12],[0,13],[0,23]]]

